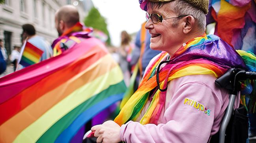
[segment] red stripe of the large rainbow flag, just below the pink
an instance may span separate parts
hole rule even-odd
[[[50,76],[44,78],[41,82],[38,82],[29,87],[28,89],[22,91],[14,98],[11,98],[7,102],[2,103],[0,105],[0,125],[2,125],[2,123],[4,123],[7,119],[11,118],[13,115],[17,114],[19,111],[30,105],[30,103],[43,96],[45,93],[58,87],[73,76],[90,67],[90,65],[95,63],[97,60],[99,60],[99,58],[106,54],[107,53],[105,51],[102,51],[99,46],[93,47],[91,51],[84,55],[84,57],[86,58],[78,60],[77,62],[72,63],[64,69],[61,69],[51,74]]]

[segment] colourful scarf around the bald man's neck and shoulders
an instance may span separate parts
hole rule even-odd
[[[69,40],[73,40],[74,43],[80,43],[79,38],[89,38],[90,33],[92,33],[92,29],[86,28],[82,23],[77,22],[77,24],[65,31],[62,36],[54,40],[52,43],[53,56],[58,56],[66,50],[64,47],[61,47],[60,43],[65,43]]]

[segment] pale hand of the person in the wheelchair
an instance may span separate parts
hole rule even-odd
[[[114,121],[105,121],[102,125],[92,127],[97,143],[118,143],[120,139],[121,127]]]

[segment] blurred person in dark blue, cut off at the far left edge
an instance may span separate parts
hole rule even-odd
[[[5,76],[7,54],[4,48],[4,41],[0,39],[0,77]]]

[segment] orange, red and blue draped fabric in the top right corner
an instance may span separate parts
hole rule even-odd
[[[256,53],[256,0],[211,0],[207,24],[235,49]]]

